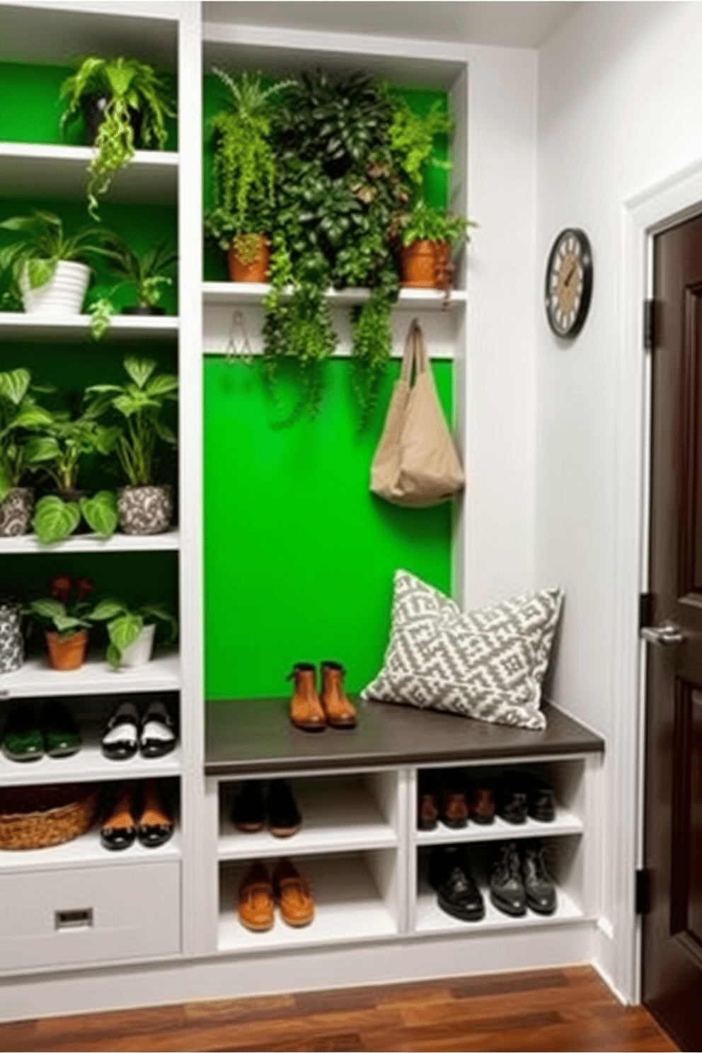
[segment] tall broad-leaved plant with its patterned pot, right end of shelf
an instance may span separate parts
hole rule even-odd
[[[157,442],[177,443],[160,413],[166,402],[177,401],[178,377],[165,373],[153,377],[156,362],[147,358],[127,355],[123,364],[131,382],[86,389],[86,395],[95,396],[86,412],[99,416],[112,409],[123,419],[114,448],[128,482],[117,496],[122,530],[161,534],[171,525],[173,498],[168,486],[154,484],[152,470]]]

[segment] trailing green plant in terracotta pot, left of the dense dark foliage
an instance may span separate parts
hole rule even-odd
[[[292,82],[264,87],[260,73],[213,73],[227,95],[210,122],[216,204],[205,218],[205,233],[226,251],[232,281],[262,282],[269,263],[266,227],[276,174],[272,103]]]

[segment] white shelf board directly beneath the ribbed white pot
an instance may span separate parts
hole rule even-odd
[[[89,315],[26,315],[3,311],[0,312],[0,340],[89,340],[100,352],[115,340],[173,339],[180,329],[180,320],[174,315],[113,315],[107,332],[100,340],[94,340],[89,324]]]

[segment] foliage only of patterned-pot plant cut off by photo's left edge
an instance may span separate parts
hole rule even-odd
[[[51,423],[51,414],[37,404],[31,385],[28,370],[0,373],[0,501],[37,463],[27,455],[31,433]]]

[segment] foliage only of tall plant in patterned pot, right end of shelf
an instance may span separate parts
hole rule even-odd
[[[123,423],[106,431],[116,435],[114,449],[132,486],[147,486],[153,482],[152,466],[158,440],[176,445],[177,439],[160,419],[166,402],[177,401],[178,377],[161,373],[153,377],[156,362],[148,358],[127,355],[123,360],[131,382],[93,384],[85,391],[93,396],[85,411],[92,418],[112,409]]]

